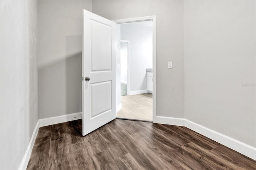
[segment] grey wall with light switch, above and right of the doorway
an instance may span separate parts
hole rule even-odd
[[[92,12],[109,20],[156,16],[156,115],[184,117],[183,0],[93,0]]]

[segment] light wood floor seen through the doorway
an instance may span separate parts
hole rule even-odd
[[[121,96],[122,109],[117,117],[152,121],[153,99],[151,93]]]

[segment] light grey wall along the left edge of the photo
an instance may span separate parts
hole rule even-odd
[[[0,169],[18,169],[38,121],[37,0],[0,1]]]

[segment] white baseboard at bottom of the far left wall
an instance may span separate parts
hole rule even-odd
[[[20,163],[20,167],[19,167],[19,170],[26,170],[27,169],[27,166],[28,166],[28,161],[29,161],[29,158],[30,158],[30,155],[31,155],[31,152],[32,152],[32,149],[33,149],[33,146],[34,146],[34,143],[35,143],[35,140],[36,140],[36,135],[38,133],[38,129],[39,129],[39,123],[40,121],[38,120],[38,122],[36,123],[36,127],[34,129],[34,132],[31,136],[31,139],[28,143],[28,147],[27,147],[27,150],[23,156],[23,159]]]

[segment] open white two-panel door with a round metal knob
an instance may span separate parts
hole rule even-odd
[[[84,10],[83,31],[82,131],[86,135],[116,118],[116,23]]]

